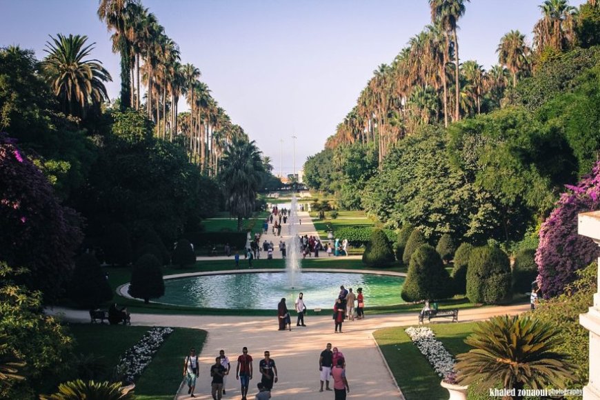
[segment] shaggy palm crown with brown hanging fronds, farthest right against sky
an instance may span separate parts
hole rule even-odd
[[[543,17],[533,27],[534,47],[537,52],[550,47],[561,51],[574,40],[577,9],[568,0],[546,0],[541,6]]]

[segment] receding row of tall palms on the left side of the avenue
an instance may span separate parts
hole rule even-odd
[[[139,0],[100,0],[97,13],[113,32],[113,51],[121,54],[121,108],[145,109],[156,123],[157,137],[172,141],[183,134],[190,161],[216,175],[226,146],[233,139],[248,141],[248,137],[199,80],[200,70],[181,63],[177,43]],[[186,96],[190,112],[179,114],[181,95]]]

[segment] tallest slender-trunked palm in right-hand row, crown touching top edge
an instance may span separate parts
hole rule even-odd
[[[433,23],[439,21],[446,34],[446,48],[450,48],[450,39],[448,32],[452,32],[454,41],[454,61],[456,69],[454,70],[454,88],[455,88],[455,110],[454,120],[461,118],[460,111],[460,62],[459,62],[459,40],[457,37],[458,21],[465,14],[465,2],[470,0],[429,0],[431,8],[431,19]]]

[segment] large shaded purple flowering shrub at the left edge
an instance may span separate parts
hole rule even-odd
[[[56,299],[81,243],[79,216],[6,134],[0,133],[0,261],[27,268],[15,277],[46,300]]]

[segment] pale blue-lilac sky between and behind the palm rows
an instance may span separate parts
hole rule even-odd
[[[472,0],[459,20],[461,62],[497,63],[510,30],[532,41],[541,0]],[[585,0],[570,0],[579,6]],[[356,105],[381,63],[391,63],[430,23],[427,0],[142,0],[179,45],[181,62],[202,73],[212,97],[271,158],[291,174]],[[97,0],[0,0],[0,47],[19,45],[38,59],[49,34],[85,34],[92,57],[112,75],[119,96],[119,56],[97,17]],[[188,107],[182,99],[180,112]],[[292,136],[297,139],[292,139]]]

